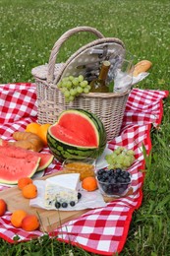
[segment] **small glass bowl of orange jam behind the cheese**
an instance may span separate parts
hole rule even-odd
[[[62,168],[65,173],[80,173],[81,181],[85,177],[95,176],[95,160],[90,158],[83,160],[64,160]]]

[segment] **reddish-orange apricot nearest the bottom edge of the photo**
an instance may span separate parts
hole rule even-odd
[[[33,231],[39,227],[39,220],[35,215],[28,215],[22,221],[22,228],[26,231]]]

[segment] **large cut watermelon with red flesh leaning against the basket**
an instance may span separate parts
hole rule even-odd
[[[96,159],[106,147],[101,120],[83,109],[63,111],[47,131],[48,147],[57,160]]]

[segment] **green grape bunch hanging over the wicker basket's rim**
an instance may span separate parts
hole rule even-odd
[[[58,89],[65,96],[66,102],[71,102],[76,96],[81,94],[88,94],[90,91],[90,86],[85,80],[83,75],[79,77],[69,76],[64,77],[58,84]]]

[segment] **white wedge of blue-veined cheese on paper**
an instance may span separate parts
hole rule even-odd
[[[45,181],[45,207],[55,208],[55,203],[78,203],[80,173],[69,173],[47,178]]]

